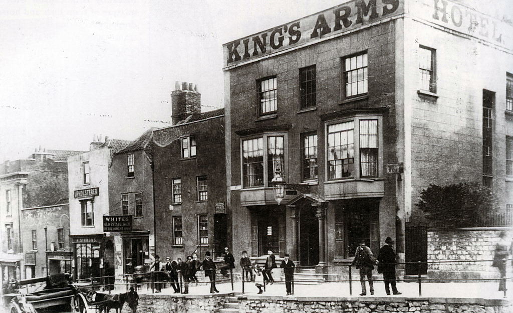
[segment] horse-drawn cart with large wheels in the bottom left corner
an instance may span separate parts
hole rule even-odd
[[[9,313],[108,313],[111,308],[117,312],[125,302],[125,293],[95,292],[90,286],[70,282],[65,274],[22,280],[18,285],[17,292],[4,294]]]

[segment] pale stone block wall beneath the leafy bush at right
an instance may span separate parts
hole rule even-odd
[[[509,230],[511,232],[512,228],[488,227],[429,230],[427,234],[428,262],[467,262],[428,263],[428,277],[440,279],[499,278],[499,271],[491,266],[491,262],[471,261],[492,260],[495,245],[499,241],[499,233],[502,230]]]

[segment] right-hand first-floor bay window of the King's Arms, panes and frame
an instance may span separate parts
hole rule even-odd
[[[327,178],[378,177],[378,118],[354,117],[327,125]]]

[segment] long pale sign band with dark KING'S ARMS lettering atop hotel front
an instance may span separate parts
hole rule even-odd
[[[319,42],[404,13],[405,0],[352,0],[223,45],[224,65]]]

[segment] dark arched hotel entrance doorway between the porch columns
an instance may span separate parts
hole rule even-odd
[[[299,216],[299,254],[301,266],[319,264],[319,222],[309,206],[301,208]]]

